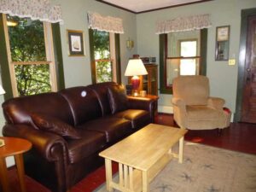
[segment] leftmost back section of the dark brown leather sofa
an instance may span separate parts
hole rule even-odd
[[[70,107],[65,98],[58,93],[15,97],[3,102],[2,106],[9,124],[33,125],[31,113],[44,113],[73,125]]]

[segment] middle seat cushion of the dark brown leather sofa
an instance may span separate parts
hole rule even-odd
[[[131,133],[131,121],[111,116],[90,120],[79,125],[78,129],[99,131],[104,133],[107,143],[113,143],[119,138]]]

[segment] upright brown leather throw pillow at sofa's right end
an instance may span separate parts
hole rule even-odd
[[[118,84],[108,88],[108,99],[111,113],[124,111],[128,108],[128,99],[125,95],[125,89]]]

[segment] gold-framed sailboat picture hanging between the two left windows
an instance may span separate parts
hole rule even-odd
[[[67,30],[69,56],[84,56],[84,32]]]

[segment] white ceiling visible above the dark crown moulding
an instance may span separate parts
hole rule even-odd
[[[161,9],[186,3],[200,3],[204,1],[207,0],[102,0],[101,2],[139,13],[153,9]]]

